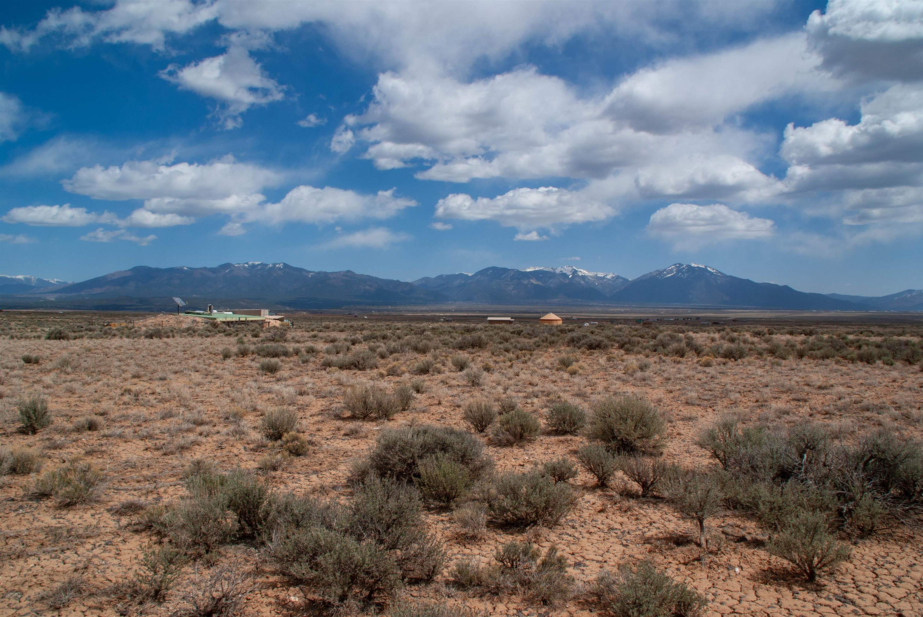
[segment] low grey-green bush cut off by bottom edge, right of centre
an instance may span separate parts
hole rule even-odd
[[[613,617],[698,617],[707,605],[700,593],[660,572],[651,561],[602,572],[593,585],[600,608]]]

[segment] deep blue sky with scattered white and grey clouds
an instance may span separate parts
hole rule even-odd
[[[923,287],[923,3],[0,8],[0,273]]]

